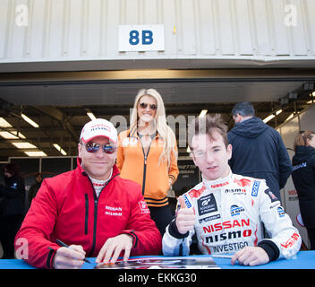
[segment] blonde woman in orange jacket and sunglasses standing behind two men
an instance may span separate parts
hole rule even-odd
[[[173,214],[167,190],[178,176],[175,134],[166,124],[161,95],[154,89],[138,92],[130,129],[119,135],[117,167],[122,178],[138,182],[151,218],[162,236]]]

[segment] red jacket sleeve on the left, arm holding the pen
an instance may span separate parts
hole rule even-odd
[[[17,254],[30,265],[53,268],[53,257],[59,247],[49,239],[54,230],[56,213],[55,194],[44,180],[21,224],[21,229],[16,234],[14,243]]]

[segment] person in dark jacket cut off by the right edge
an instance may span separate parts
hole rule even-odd
[[[315,250],[315,132],[301,131],[294,141],[292,178],[311,250]]]

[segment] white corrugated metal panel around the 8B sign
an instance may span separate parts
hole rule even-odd
[[[315,57],[314,0],[0,0],[0,10],[2,62]],[[166,50],[119,53],[120,24],[164,24]]]

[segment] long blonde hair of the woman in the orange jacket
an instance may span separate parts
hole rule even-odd
[[[175,150],[176,138],[173,130],[166,123],[166,109],[164,107],[163,99],[158,91],[156,91],[155,89],[141,89],[138,92],[133,104],[130,126],[131,128],[135,125],[138,126],[138,105],[141,97],[143,96],[150,96],[157,101],[158,109],[155,118],[156,127],[158,130],[158,135],[164,140],[163,152],[159,157],[158,163],[160,163],[161,161],[167,161],[167,166],[169,167],[172,152],[174,152],[177,158],[177,152]]]

